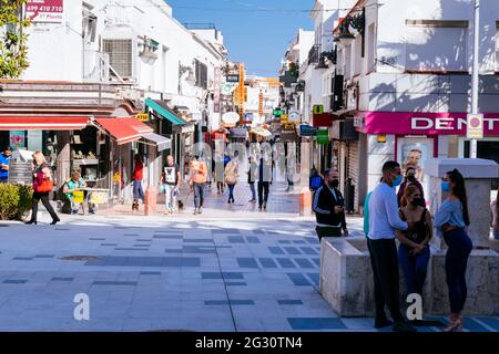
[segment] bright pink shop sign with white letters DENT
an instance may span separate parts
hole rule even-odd
[[[466,135],[466,113],[358,112],[368,134]],[[499,135],[499,113],[483,114],[483,135]]]

